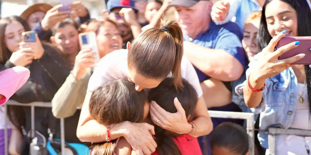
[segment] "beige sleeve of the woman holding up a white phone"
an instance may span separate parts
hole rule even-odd
[[[69,74],[52,100],[52,113],[56,118],[72,116],[77,111],[77,107],[83,104],[90,77],[91,69],[88,69],[80,80],[72,73]]]

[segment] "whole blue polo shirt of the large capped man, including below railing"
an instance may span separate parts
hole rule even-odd
[[[248,68],[248,60],[241,43],[243,35],[242,32],[240,31],[239,26],[233,22],[228,22],[223,25],[216,25],[213,21],[211,21],[210,27],[206,31],[200,33],[196,38],[190,38],[186,34],[183,34],[183,37],[185,41],[193,42],[202,47],[225,50],[226,52],[234,56],[234,58],[239,60],[239,62],[243,65],[244,70]],[[222,58],[218,59],[221,60]],[[200,82],[203,82],[210,78],[202,71],[197,69],[195,66],[194,68],[197,72],[197,76]],[[209,110],[242,112],[241,109],[234,103],[230,103],[222,107],[209,108]],[[214,128],[222,122],[234,122],[241,126],[243,125],[244,122],[244,120],[237,120],[237,119],[214,118],[214,117],[212,117],[211,119]],[[210,135],[206,135],[206,139],[207,139],[206,144],[207,154],[204,155],[210,155],[211,154]],[[202,152],[204,153],[205,146],[203,136],[198,137],[198,141],[202,149]]]

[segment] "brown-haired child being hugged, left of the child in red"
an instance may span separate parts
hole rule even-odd
[[[144,90],[138,92],[134,84],[119,79],[109,81],[93,92],[89,111],[94,120],[110,127],[110,124],[123,121],[143,122],[149,113],[149,103]],[[111,140],[110,137],[106,139],[108,142],[93,143],[90,154],[131,154],[132,147],[124,137],[115,140]]]

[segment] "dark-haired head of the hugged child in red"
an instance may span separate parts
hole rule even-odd
[[[169,113],[176,113],[174,98],[177,97],[185,110],[188,120],[192,120],[197,105],[197,91],[185,79],[182,80],[183,89],[176,90],[172,78],[166,78],[149,92],[149,102],[155,101]]]

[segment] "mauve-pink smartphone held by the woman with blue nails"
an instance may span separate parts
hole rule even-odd
[[[292,64],[311,64],[311,37],[283,37],[278,43],[277,48],[280,48],[282,46],[285,46],[291,42],[300,41],[300,44],[298,47],[295,47],[294,49],[291,49],[281,56],[279,56],[279,60],[287,59],[290,57],[293,57],[295,55],[298,55],[300,53],[304,53],[304,58],[292,63]]]

